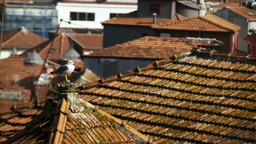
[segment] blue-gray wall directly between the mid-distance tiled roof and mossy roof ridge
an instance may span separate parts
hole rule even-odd
[[[106,78],[118,74],[119,72],[126,72],[136,69],[137,66],[146,66],[154,63],[154,60],[141,59],[117,59],[117,58],[89,58],[85,57],[84,68],[88,68],[100,77]]]

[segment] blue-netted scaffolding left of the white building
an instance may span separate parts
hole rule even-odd
[[[6,7],[3,32],[22,26],[48,39],[48,32],[58,27],[58,11],[55,8]]]

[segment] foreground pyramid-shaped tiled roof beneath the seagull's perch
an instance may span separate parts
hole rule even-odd
[[[54,97],[58,102],[46,99],[42,112],[4,144],[153,144],[152,138],[78,99],[74,91],[58,92]]]

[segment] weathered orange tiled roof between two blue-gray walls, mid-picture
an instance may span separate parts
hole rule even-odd
[[[95,51],[86,57],[125,57],[125,58],[168,58],[174,53],[189,52],[195,46],[219,46],[212,40],[192,40],[188,38],[161,38],[144,36],[103,50]]]

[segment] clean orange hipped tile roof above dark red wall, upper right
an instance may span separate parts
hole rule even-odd
[[[205,15],[187,18],[186,20],[152,26],[163,30],[204,30],[208,32],[236,32],[240,26],[232,24],[218,16]]]

